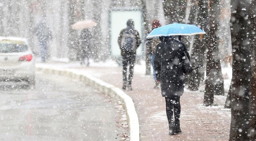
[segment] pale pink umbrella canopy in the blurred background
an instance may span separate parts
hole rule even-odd
[[[71,25],[71,28],[75,30],[81,30],[81,29],[95,27],[96,25],[97,23],[94,22],[93,20],[82,20],[82,21],[75,22],[73,25]]]

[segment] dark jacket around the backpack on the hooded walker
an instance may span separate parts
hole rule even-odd
[[[134,51],[135,54],[136,54],[136,49],[137,49],[137,48],[139,47],[139,45],[141,44],[141,39],[139,38],[139,32],[136,31],[133,26],[127,25],[127,27],[126,27],[125,29],[122,29],[122,31],[120,32],[120,34],[119,34],[119,36],[118,36],[118,40],[117,40],[118,45],[119,45],[119,47],[120,47],[120,49],[121,49],[121,55],[124,53],[124,49],[122,49],[122,46],[121,46],[122,36],[123,36],[124,33],[125,33],[126,31],[128,31],[128,30],[131,30],[131,31],[134,33],[134,35],[135,35],[135,40],[136,40],[135,51]]]

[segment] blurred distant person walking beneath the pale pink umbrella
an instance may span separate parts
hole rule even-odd
[[[81,53],[81,65],[85,65],[85,59],[87,60],[87,66],[89,66],[89,58],[91,56],[91,38],[92,34],[89,29],[83,29],[80,35],[80,53]]]

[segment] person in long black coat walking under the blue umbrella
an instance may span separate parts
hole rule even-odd
[[[169,135],[175,135],[181,132],[180,96],[184,92],[185,75],[191,72],[186,67],[190,57],[185,45],[173,36],[160,36],[160,40],[154,60],[156,78],[161,83],[161,95],[165,97]]]

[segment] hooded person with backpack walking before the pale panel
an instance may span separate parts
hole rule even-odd
[[[123,66],[123,86],[122,90],[132,90],[132,78],[136,59],[136,50],[141,44],[139,32],[134,29],[134,20],[129,19],[126,22],[127,27],[122,29],[118,37],[118,45],[121,49]],[[129,77],[127,80],[127,68],[129,64]]]

